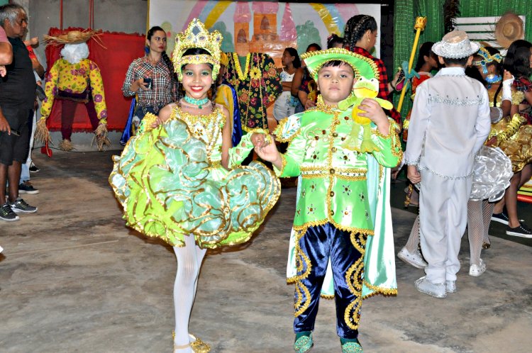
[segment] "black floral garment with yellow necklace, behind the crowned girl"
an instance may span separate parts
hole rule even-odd
[[[250,52],[244,69],[235,52],[228,55],[227,81],[235,87],[242,128],[267,128],[266,108],[282,93],[281,79],[270,55]]]

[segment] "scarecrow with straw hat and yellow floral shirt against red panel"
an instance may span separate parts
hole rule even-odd
[[[105,103],[104,82],[96,62],[88,59],[89,47],[87,40],[94,37],[96,32],[87,30],[71,30],[68,33],[51,37],[45,35],[45,40],[52,45],[65,45],[61,50],[62,57],[57,60],[46,74],[45,94],[42,115],[35,138],[42,142],[50,141],[50,133],[46,128],[46,119],[50,116],[52,106],[57,100],[61,106],[61,135],[62,150],[72,150],[72,123],[78,103],[84,103],[87,114],[94,129],[96,147],[104,150],[111,145],[107,138],[107,108]]]

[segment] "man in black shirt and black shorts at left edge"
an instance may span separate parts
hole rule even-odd
[[[28,26],[26,11],[17,4],[0,6],[0,26],[13,47],[13,62],[6,66],[6,76],[0,78],[0,125],[9,125],[7,131],[0,130],[0,220],[9,221],[18,220],[16,213],[37,211],[18,196],[21,163],[29,152],[28,115],[35,100],[35,77],[28,50],[21,40]]]

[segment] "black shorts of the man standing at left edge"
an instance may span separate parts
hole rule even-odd
[[[31,110],[16,106],[2,106],[1,108],[11,128],[11,135],[5,131],[0,132],[0,163],[11,165],[13,160],[24,163],[30,152],[28,114]]]

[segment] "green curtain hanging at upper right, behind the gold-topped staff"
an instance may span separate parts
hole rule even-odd
[[[397,0],[394,4],[394,67],[408,61],[414,44],[414,23],[417,16],[425,16],[427,25],[419,37],[419,45],[426,41],[437,42],[443,37],[443,4],[445,0]],[[525,39],[532,41],[532,0],[460,0],[462,17],[501,16],[506,11],[514,11],[525,18]],[[416,48],[419,50],[419,45]],[[416,65],[417,54],[414,59]],[[410,92],[405,96],[401,116],[406,116],[412,103]],[[399,103],[399,94],[394,96],[394,104]]]

